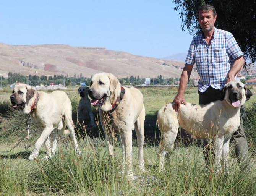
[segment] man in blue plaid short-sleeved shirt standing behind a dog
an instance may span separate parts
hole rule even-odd
[[[243,53],[230,32],[214,27],[217,14],[214,6],[202,5],[198,9],[198,22],[202,33],[190,44],[185,67],[183,68],[177,96],[174,98],[174,109],[180,104],[186,105],[184,92],[190,78],[193,65],[200,76],[198,82],[199,104],[209,104],[220,100],[220,89],[225,83],[235,80],[235,75],[244,65]],[[240,117],[241,118],[241,117]],[[233,134],[238,163],[248,159],[248,145],[243,131],[241,118],[238,130]],[[207,142],[203,141],[206,147]],[[206,159],[208,151],[206,151]]]

